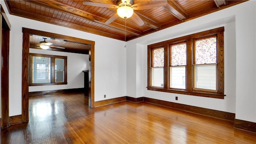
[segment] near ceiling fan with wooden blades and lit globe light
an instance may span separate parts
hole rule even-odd
[[[105,4],[105,3],[98,3],[98,2],[83,2],[84,5],[89,6],[99,6],[99,7],[106,7],[106,8],[117,8],[117,13],[110,17],[105,24],[109,24],[116,20],[116,18],[131,18],[136,24],[139,26],[144,25],[142,19],[133,11],[133,10],[145,10],[150,8],[157,8],[160,6],[166,6],[166,0],[154,0],[148,2],[141,2],[134,4],[133,0],[117,0],[116,5],[114,4]]]

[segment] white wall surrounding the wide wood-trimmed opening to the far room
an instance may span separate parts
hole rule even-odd
[[[13,16],[8,14],[5,3],[2,0],[0,2],[12,25],[9,60],[9,116],[20,115],[22,108],[22,27],[95,41],[95,101],[126,96],[126,48],[124,48],[124,42]],[[46,88],[41,90],[46,90]],[[33,90],[30,88],[30,91]],[[104,98],[104,94],[106,94],[106,98]]]

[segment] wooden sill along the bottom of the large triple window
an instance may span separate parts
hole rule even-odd
[[[148,87],[148,90],[154,90],[159,92],[170,92],[175,94],[186,94],[191,96],[203,96],[208,98],[220,98],[224,99],[225,94],[213,94],[213,93],[206,93],[206,92],[188,92],[186,90],[171,90],[171,89],[164,89],[164,88],[155,88],[155,87]]]

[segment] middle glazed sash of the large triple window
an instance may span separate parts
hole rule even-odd
[[[170,45],[170,88],[186,89],[186,42]]]

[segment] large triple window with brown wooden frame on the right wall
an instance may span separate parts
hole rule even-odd
[[[148,90],[224,98],[224,27],[148,45]]]

